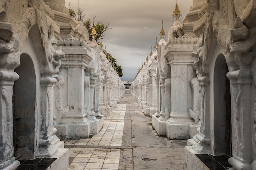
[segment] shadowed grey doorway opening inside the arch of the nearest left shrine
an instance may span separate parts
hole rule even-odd
[[[20,78],[13,86],[13,145],[16,159],[33,159],[35,152],[36,74],[31,57],[23,53],[14,70]]]

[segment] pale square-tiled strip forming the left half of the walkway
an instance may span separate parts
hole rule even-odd
[[[64,141],[69,148],[69,170],[118,170],[126,104],[118,104],[103,128],[88,139]]]

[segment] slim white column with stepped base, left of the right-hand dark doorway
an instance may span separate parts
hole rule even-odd
[[[201,87],[201,109],[200,109],[200,119],[201,119],[201,126],[200,126],[200,132],[198,135],[196,135],[196,138],[200,141],[198,144],[193,146],[193,148],[198,153],[210,153],[210,89],[209,89],[209,76],[204,77],[198,77],[198,81]]]

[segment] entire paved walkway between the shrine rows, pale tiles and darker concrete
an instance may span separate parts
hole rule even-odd
[[[160,137],[151,117],[125,94],[97,135],[64,140],[69,170],[182,170],[186,140]]]

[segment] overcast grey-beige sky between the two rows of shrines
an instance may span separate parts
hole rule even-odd
[[[66,0],[66,7],[76,11],[79,7],[86,13],[84,21],[96,16],[95,22],[110,23],[102,44],[106,51],[117,59],[123,69],[124,81],[132,81],[152,46],[164,20],[165,40],[173,24],[173,9],[176,0]],[[178,0],[182,18],[192,6],[192,0]]]

